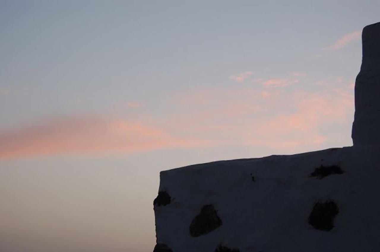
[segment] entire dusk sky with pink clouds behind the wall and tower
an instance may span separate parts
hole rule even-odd
[[[0,0],[0,250],[153,250],[159,172],[351,146],[366,1]]]

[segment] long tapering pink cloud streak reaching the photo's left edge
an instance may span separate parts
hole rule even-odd
[[[204,144],[206,141],[198,138],[175,137],[126,120],[61,118],[0,132],[0,158],[191,148]]]

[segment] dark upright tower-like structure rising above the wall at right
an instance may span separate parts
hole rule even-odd
[[[363,60],[355,82],[354,146],[380,144],[380,22],[362,33]]]

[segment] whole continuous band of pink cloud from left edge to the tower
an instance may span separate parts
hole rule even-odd
[[[291,74],[290,74],[291,75]],[[301,78],[301,77],[300,77]],[[269,79],[283,86],[298,78]],[[326,79],[313,91],[263,85],[205,87],[173,94],[165,118],[141,111],[133,121],[94,117],[46,120],[0,132],[0,158],[129,153],[162,148],[247,145],[296,152],[320,148],[337,137],[322,129],[351,123],[353,90]],[[309,83],[310,84],[310,83]]]

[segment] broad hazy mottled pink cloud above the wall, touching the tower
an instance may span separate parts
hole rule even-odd
[[[353,94],[343,84],[312,92],[234,87],[188,93],[183,106],[195,109],[170,122],[189,135],[217,139],[220,145],[266,146],[279,151],[320,148],[336,137],[320,132],[321,128],[351,123]],[[198,102],[200,97],[203,102]]]

